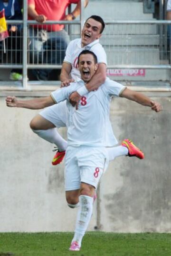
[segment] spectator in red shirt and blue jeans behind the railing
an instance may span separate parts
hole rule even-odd
[[[66,15],[66,8],[76,4],[75,10]],[[85,6],[88,0],[85,0]],[[28,0],[28,20],[44,23],[46,20],[74,20],[80,14],[80,0]],[[65,57],[69,36],[64,25],[34,25],[29,29],[30,59],[34,64],[61,64]],[[49,49],[49,50],[48,50]],[[38,80],[48,80],[52,69],[34,69]]]

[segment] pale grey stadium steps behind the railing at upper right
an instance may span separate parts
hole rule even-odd
[[[90,0],[85,18],[99,15],[104,20],[155,20],[153,13],[143,12],[142,0]],[[160,53],[160,36],[155,24],[107,25],[100,39],[107,54],[108,65],[167,65],[169,61]],[[162,60],[161,60],[162,59]],[[111,76],[114,80],[169,81],[170,70],[146,69],[144,76]]]

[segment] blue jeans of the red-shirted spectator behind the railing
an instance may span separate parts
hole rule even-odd
[[[47,30],[29,29],[29,56],[33,64],[62,64],[69,36],[65,30],[48,32]],[[38,80],[48,80],[52,69],[34,69]]]

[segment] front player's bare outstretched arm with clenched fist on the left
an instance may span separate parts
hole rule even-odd
[[[29,100],[19,100],[15,96],[8,96],[6,98],[6,105],[8,107],[16,108],[29,108],[29,109],[41,109],[54,105],[55,102],[50,96],[43,98],[34,98]]]

